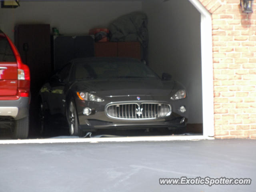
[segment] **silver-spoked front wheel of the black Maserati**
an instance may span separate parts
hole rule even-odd
[[[70,136],[80,136],[76,106],[73,99],[70,101],[68,105],[68,126]]]

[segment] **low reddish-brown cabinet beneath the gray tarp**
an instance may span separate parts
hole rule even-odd
[[[140,42],[97,42],[95,57],[123,57],[141,60]]]

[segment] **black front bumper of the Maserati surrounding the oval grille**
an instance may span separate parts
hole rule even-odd
[[[154,99],[154,100],[153,100]],[[82,101],[79,98],[75,100],[76,109],[78,113],[78,121],[80,128],[85,131],[93,131],[97,129],[139,129],[139,128],[150,128],[150,127],[173,127],[180,128],[185,127],[188,117],[188,110],[184,113],[179,111],[180,106],[187,106],[187,99],[170,101],[167,98],[143,98],[139,102],[159,102],[169,104],[172,108],[172,113],[164,118],[156,119],[143,119],[143,120],[132,120],[132,119],[118,119],[109,117],[105,110],[106,106],[111,102],[138,102],[138,100],[129,100],[129,98],[111,98],[111,100],[105,100],[104,102],[88,102]],[[166,102],[168,101],[168,102]],[[92,114],[86,116],[83,114],[84,108],[91,108]]]

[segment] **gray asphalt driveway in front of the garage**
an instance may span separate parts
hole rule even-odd
[[[255,191],[256,140],[1,144],[0,192]],[[250,186],[159,185],[159,178],[251,178]]]

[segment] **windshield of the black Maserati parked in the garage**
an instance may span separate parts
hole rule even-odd
[[[133,60],[84,60],[76,63],[75,79],[158,78],[145,64]]]

